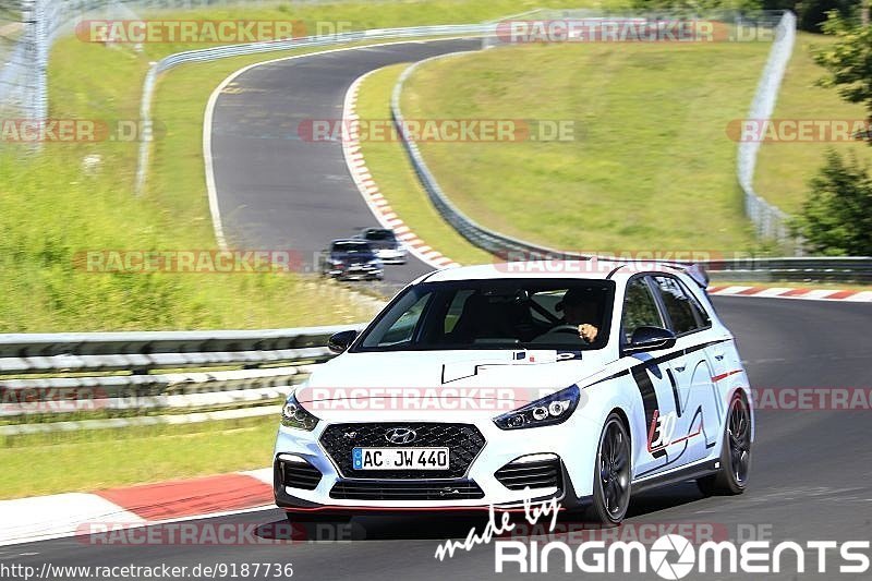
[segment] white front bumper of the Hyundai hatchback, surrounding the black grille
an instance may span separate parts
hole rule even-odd
[[[579,453],[578,439],[569,437],[571,422],[518,431],[499,429],[489,420],[464,425],[474,425],[485,444],[463,474],[453,477],[374,477],[372,473],[361,477],[347,465],[340,467],[341,462],[328,453],[320,437],[329,424],[319,422],[313,432],[281,426],[274,453],[276,504],[292,511],[365,513],[479,510],[491,506],[516,509],[524,501],[550,498],[560,500],[564,508],[577,508],[590,501],[593,461],[589,455]],[[524,457],[550,463],[556,477],[536,480],[544,473],[543,465],[528,468],[524,464],[530,461],[519,462]],[[289,474],[301,473],[294,470],[296,467],[310,473],[304,477],[305,486],[300,486],[295,476],[286,480],[286,470]],[[521,483],[532,486],[518,488],[519,483],[507,477],[519,472],[526,474]]]

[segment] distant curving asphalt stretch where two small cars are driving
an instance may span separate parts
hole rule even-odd
[[[374,69],[481,47],[480,40],[402,43],[327,52],[254,68],[217,100],[213,160],[231,243],[290,250],[312,264],[336,238],[378,226],[349,175],[341,143],[300,135],[312,120],[339,120],[346,92]],[[395,287],[433,270],[413,256],[387,266]]]

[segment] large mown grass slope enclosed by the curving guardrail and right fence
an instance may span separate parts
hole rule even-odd
[[[574,251],[748,251],[725,128],[751,102],[768,48],[495,49],[419,69],[403,112],[578,121],[570,142],[422,145],[451,199],[497,231]]]

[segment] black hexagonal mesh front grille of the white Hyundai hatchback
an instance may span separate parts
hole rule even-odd
[[[385,433],[391,427],[409,427],[417,437],[405,445],[388,441]],[[484,448],[484,436],[469,424],[403,423],[334,424],[320,435],[320,445],[339,469],[353,479],[459,479],[467,474],[472,461]],[[353,448],[427,448],[447,447],[450,451],[448,470],[354,470]]]

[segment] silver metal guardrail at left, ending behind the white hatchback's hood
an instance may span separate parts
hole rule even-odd
[[[360,327],[0,335],[0,420],[104,426],[155,410],[271,410],[334,356],[330,335]]]

